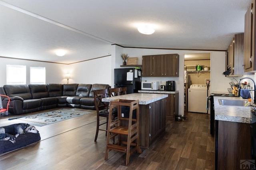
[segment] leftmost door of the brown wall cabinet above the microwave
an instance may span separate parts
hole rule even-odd
[[[142,56],[142,76],[153,76],[153,55]]]

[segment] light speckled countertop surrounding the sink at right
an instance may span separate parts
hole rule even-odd
[[[244,106],[223,106],[219,104],[218,99],[246,100],[240,97],[222,97],[214,96],[215,120],[229,121],[238,123],[255,123],[256,116],[251,113],[251,107]]]

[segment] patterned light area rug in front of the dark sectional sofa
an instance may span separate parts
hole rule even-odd
[[[58,109],[55,111],[48,111],[45,113],[37,113],[34,115],[27,115],[22,117],[9,118],[9,121],[15,121],[18,123],[28,123],[30,125],[42,127],[45,125],[50,125],[52,123],[57,123],[74,117],[79,117],[86,115],[88,111],[72,111],[68,109]]]

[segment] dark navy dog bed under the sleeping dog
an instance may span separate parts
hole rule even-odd
[[[0,140],[0,154],[28,146],[30,144],[36,143],[41,139],[39,133],[22,133],[15,138],[15,143],[9,140]]]

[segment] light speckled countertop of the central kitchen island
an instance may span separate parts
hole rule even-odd
[[[154,101],[158,101],[158,100],[164,99],[166,97],[168,97],[168,95],[165,95],[165,94],[132,93],[132,94],[128,94],[128,95],[120,95],[120,96],[102,98],[102,101],[110,102],[115,99],[139,100],[140,105],[148,105],[149,103],[153,103]]]

